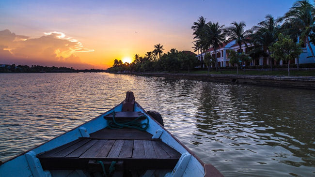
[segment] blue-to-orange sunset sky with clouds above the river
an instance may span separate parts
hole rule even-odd
[[[155,44],[192,50],[190,29],[206,21],[252,28],[295,0],[1,0],[0,64],[106,69]]]

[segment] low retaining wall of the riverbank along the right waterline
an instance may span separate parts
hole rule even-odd
[[[236,75],[236,74],[172,74],[172,73],[121,73],[173,79],[190,79],[209,82],[252,84],[261,86],[315,89],[314,76]]]

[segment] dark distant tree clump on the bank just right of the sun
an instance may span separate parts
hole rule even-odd
[[[175,48],[167,53],[164,53],[163,50],[163,45],[156,44],[154,50],[147,52],[144,57],[135,54],[134,61],[131,63],[123,63],[121,60],[115,59],[113,66],[108,70],[111,72],[178,72],[179,70],[187,70],[189,73],[191,69],[200,65],[193,53],[178,51]]]

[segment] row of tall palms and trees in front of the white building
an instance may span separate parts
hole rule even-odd
[[[245,30],[246,24],[243,21],[238,23],[234,21],[231,26],[225,27],[219,22],[206,22],[205,18],[201,16],[191,27],[195,39],[193,49],[194,52],[206,53],[202,63],[207,65],[208,71],[213,65],[218,71],[220,66],[218,66],[217,50],[223,43],[235,40],[239,49],[243,44],[249,49],[248,53],[244,53],[242,50],[229,51],[229,62],[236,64],[237,73],[238,65],[245,66],[246,62],[252,59],[267,57],[271,70],[274,59],[287,61],[289,74],[290,59],[298,59],[299,69],[301,45],[307,45],[312,54],[310,57],[314,58],[310,45],[315,42],[314,17],[315,6],[308,0],[296,1],[280,18],[275,19],[272,15],[266,15],[263,21],[248,30]],[[248,47],[248,44],[253,45]],[[214,57],[208,53],[208,49],[211,47],[215,53]]]

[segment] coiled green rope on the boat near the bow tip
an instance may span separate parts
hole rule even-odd
[[[147,122],[141,123],[141,122],[137,121],[139,118],[146,118]],[[148,128],[148,126],[149,126],[149,119],[144,115],[139,116],[138,118],[135,118],[131,121],[117,122],[115,120],[115,111],[113,111],[112,120],[108,120],[108,127],[110,129],[121,129],[124,127],[128,127],[128,128],[132,128],[132,129],[138,129],[140,131],[145,131]]]

